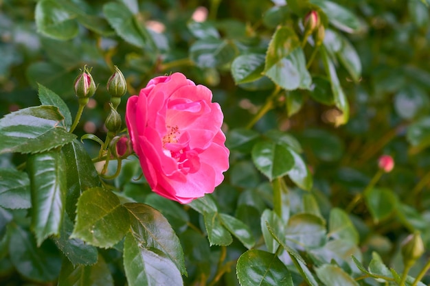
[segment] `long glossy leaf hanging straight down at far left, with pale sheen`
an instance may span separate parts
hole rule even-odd
[[[60,151],[33,154],[27,159],[32,192],[32,229],[37,244],[48,235],[58,235],[65,211],[66,170]]]

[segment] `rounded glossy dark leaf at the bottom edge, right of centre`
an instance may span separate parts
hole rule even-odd
[[[238,259],[236,274],[242,286],[293,286],[288,268],[276,254],[248,250]]]

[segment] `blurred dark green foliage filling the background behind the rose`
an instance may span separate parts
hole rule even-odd
[[[87,64],[93,67],[92,75],[99,86],[75,133],[78,137],[94,133],[104,139],[104,119],[109,111],[105,83],[113,64],[120,67],[128,81],[126,97],[138,93],[156,75],[181,71],[194,82],[209,86],[225,113],[227,146],[231,149],[231,167],[225,182],[208,196],[209,206],[165,202],[150,194],[144,179],[134,180],[139,177],[140,169],[138,161],[131,158],[120,176],[109,183],[122,203],[145,202],[168,219],[185,254],[188,272],[188,276],[182,276],[185,285],[238,285],[236,262],[252,245],[251,241],[243,243],[236,238],[230,244],[231,237],[221,226],[219,229],[225,233],[218,237],[220,240],[209,237],[208,241],[207,230],[212,228],[205,224],[207,213],[216,217],[223,213],[244,222],[256,241],[254,248],[266,251],[247,252],[248,257],[244,254],[240,260],[243,268],[238,264],[239,278],[251,276],[241,274],[251,263],[266,269],[267,261],[274,261],[271,253],[276,252],[282,263],[269,267],[269,273],[275,281],[287,277],[285,284],[278,285],[290,285],[290,272],[294,285],[303,281],[312,285],[313,279],[318,281],[316,285],[336,285],[336,281],[330,281],[333,276],[343,277],[344,281],[337,282],[339,285],[380,285],[373,278],[359,279],[363,275],[388,277],[392,279],[389,283],[397,285],[396,275],[381,266],[381,261],[401,275],[404,265],[400,243],[415,230],[420,231],[425,248],[430,246],[428,5],[428,1],[418,0],[3,0],[0,1],[0,116],[38,106],[36,83],[60,95],[75,115],[78,103],[72,84],[78,69]],[[191,21],[199,7],[209,11],[205,24]],[[289,78],[293,80],[286,76],[275,79],[276,84],[284,87],[280,91],[271,80],[262,78],[264,63],[264,73],[269,75],[270,62],[276,66],[288,57],[280,51],[286,38],[293,47],[300,46],[303,38],[300,23],[311,9],[319,11],[326,27],[324,46],[317,49],[315,60],[308,67],[313,90],[306,90],[310,88],[310,84],[304,83],[309,77],[306,71],[298,72],[297,81],[294,72],[283,70],[281,74],[291,75]],[[275,36],[279,41],[276,44],[271,39],[279,32],[278,25],[290,37]],[[295,58],[293,65],[306,65],[314,50],[311,38],[302,50],[306,61],[301,62],[296,55],[298,60]],[[240,56],[249,54],[254,61],[245,57],[239,62]],[[250,63],[245,72],[244,63]],[[330,63],[340,84],[328,72]],[[348,105],[342,103],[342,94],[346,95]],[[118,109],[122,117],[125,103],[124,98]],[[269,111],[254,122],[262,106]],[[343,121],[339,110],[346,115],[348,106],[350,118],[345,118],[348,122],[337,126]],[[84,142],[91,158],[96,157],[98,145]],[[279,153],[273,151],[280,156],[285,154],[282,148],[293,150],[302,158],[295,158],[293,165],[306,162],[309,169],[301,169],[303,176],[299,180],[291,174],[293,165],[288,167],[272,159],[273,169],[267,171],[256,163],[256,157],[261,156],[260,151],[265,147],[280,149]],[[370,188],[365,200],[348,209],[378,172],[377,158],[381,154],[392,155],[396,167],[383,174],[377,188]],[[25,154],[1,154],[0,167],[16,168],[25,160]],[[274,179],[273,183],[267,177]],[[273,215],[280,214],[276,210],[278,197],[273,198],[276,188],[281,189],[283,198],[283,216],[278,218]],[[5,192],[4,186],[0,190]],[[69,285],[65,278],[76,273],[56,248],[58,240],[49,238],[42,248],[37,248],[29,227],[30,205],[11,208],[5,204],[4,193],[1,195],[1,284],[52,285],[59,281],[59,285]],[[270,211],[273,208],[275,211]],[[266,221],[272,233],[265,226]],[[235,234],[236,230],[229,231]],[[274,237],[284,237],[281,242],[286,239],[284,243],[293,248],[288,252],[291,256],[284,250],[276,251],[279,241]],[[210,247],[210,243],[214,246]],[[78,279],[87,279],[93,285],[124,285],[122,247],[95,251],[99,262],[96,266],[78,266],[82,270],[80,276],[76,274]],[[291,261],[295,251],[304,258],[306,262],[298,261],[306,267],[298,267]],[[30,252],[36,254],[28,255]],[[363,274],[351,254],[365,267],[373,261],[373,268],[368,269],[372,274]],[[427,261],[426,252],[409,274],[418,275]],[[84,261],[84,265],[93,263],[88,257]],[[38,265],[47,268],[38,269]],[[100,280],[102,277],[106,281]],[[260,279],[267,283],[264,285],[274,285],[264,280],[269,278]],[[428,277],[422,281],[430,283]],[[254,282],[242,280],[243,285]]]

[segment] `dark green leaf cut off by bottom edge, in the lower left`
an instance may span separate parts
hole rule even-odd
[[[97,263],[90,266],[78,265],[76,267],[69,261],[63,261],[57,286],[113,286],[109,266],[101,255],[97,259],[97,252],[95,254]]]

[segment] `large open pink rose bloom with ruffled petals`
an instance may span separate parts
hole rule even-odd
[[[187,204],[224,180],[229,150],[211,91],[182,73],[148,82],[128,99],[126,124],[152,191]]]

